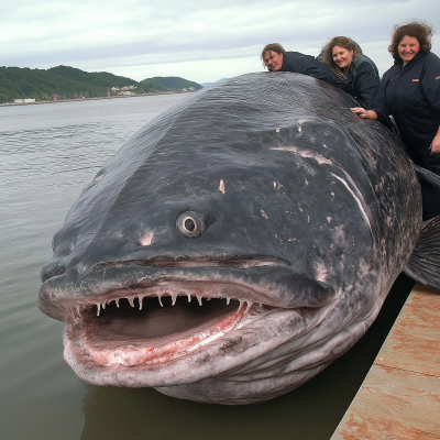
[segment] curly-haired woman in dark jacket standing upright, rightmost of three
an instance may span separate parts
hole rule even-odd
[[[413,22],[396,25],[388,51],[394,66],[382,78],[371,110],[361,118],[396,121],[413,162],[440,176],[440,58],[431,53],[432,29]],[[424,190],[424,218],[440,215],[440,199]],[[429,213],[428,213],[429,212]]]

